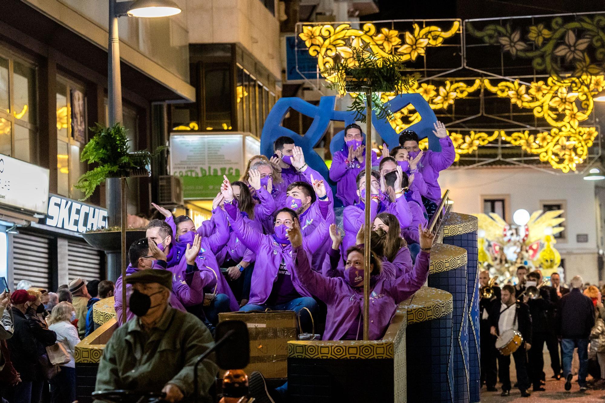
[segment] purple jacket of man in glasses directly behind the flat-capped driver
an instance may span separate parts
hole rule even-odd
[[[181,261],[185,261],[185,257]],[[186,262],[185,262],[186,265]],[[152,269],[166,269],[166,262],[154,261]],[[138,272],[139,269],[132,267],[130,264],[126,267],[126,275],[129,276],[133,273]],[[185,281],[183,281],[185,280]],[[116,309],[116,319],[118,326],[122,326],[122,276],[116,281],[116,290],[114,293],[115,302],[114,308]],[[129,300],[132,293],[132,285],[126,284],[126,301]],[[201,290],[201,278],[194,274],[188,275],[187,278],[182,280],[172,276],[172,292],[170,293],[170,306],[174,309],[186,312],[185,307],[194,306],[203,303],[204,293]],[[134,318],[134,313],[128,309],[128,303],[126,303],[126,321]]]

